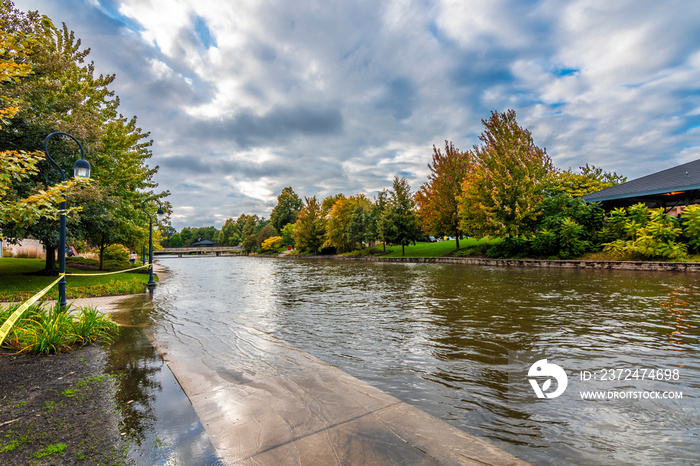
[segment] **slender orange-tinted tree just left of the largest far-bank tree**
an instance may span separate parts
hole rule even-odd
[[[445,141],[445,153],[433,146],[433,163],[428,182],[416,193],[418,220],[423,231],[429,235],[449,235],[457,238],[462,234],[459,224],[459,196],[462,181],[472,169],[471,152],[460,152],[451,142]]]

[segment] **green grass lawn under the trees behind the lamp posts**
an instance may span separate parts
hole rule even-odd
[[[31,298],[57,277],[31,275],[44,269],[43,259],[0,258],[0,301],[19,302]],[[147,269],[141,269],[147,270]],[[66,273],[97,273],[66,267]],[[154,279],[156,279],[154,277]],[[143,292],[148,274],[128,272],[114,275],[66,277],[66,298],[86,298]],[[43,299],[58,299],[58,285]]]

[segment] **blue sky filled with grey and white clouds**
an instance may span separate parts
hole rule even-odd
[[[694,0],[15,0],[65,22],[154,140],[172,223],[414,190],[512,108],[559,168],[700,158]]]

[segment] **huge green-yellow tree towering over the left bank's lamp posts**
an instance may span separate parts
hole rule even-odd
[[[122,230],[129,233],[124,241],[142,242],[148,221],[140,206],[143,200],[154,196],[152,190],[157,185],[152,176],[158,167],[151,169],[145,164],[151,141],[143,139],[148,134],[135,126],[135,118],[127,120],[117,115],[119,100],[108,89],[114,75],[95,75],[94,64],[85,63],[90,50],[81,50],[81,41],[65,24],[56,28],[48,18],[36,12],[24,14],[4,1],[0,6],[0,25],[3,37],[29,44],[21,48],[21,63],[30,68],[21,79],[3,82],[2,101],[18,105],[11,112],[3,112],[7,120],[0,130],[0,150],[28,153],[41,147],[44,137],[53,131],[73,134],[85,148],[93,180],[116,202],[112,212],[123,223]],[[5,70],[10,68],[3,66]],[[70,173],[76,158],[74,144],[55,138],[50,150],[56,162]],[[52,187],[59,180],[57,170],[43,161],[37,167],[31,176],[13,184],[9,197],[22,199],[55,190]],[[162,199],[167,194],[156,197]],[[166,212],[170,210],[167,203],[162,204]],[[54,269],[58,235],[51,216],[28,225],[17,216],[9,220],[2,224],[6,234],[18,238],[32,235],[41,240],[47,250],[46,269]],[[81,228],[71,225],[76,231]]]

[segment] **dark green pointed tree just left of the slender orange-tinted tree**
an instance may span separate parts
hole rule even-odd
[[[406,178],[394,177],[393,188],[381,218],[382,237],[385,241],[401,245],[401,255],[406,255],[406,246],[423,237],[414,211],[415,202],[411,186]]]

